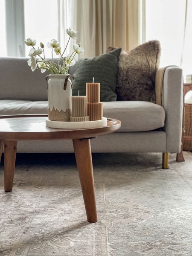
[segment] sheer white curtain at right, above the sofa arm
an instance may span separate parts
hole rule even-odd
[[[192,74],[192,1],[143,0],[145,41],[161,44],[160,66],[177,65]]]

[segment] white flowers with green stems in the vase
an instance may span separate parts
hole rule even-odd
[[[73,29],[67,29],[67,35],[69,35],[69,40],[67,45],[69,44],[70,38],[77,38],[77,32]],[[29,60],[27,61],[28,65],[31,66],[31,70],[35,71],[36,69],[41,69],[41,72],[44,73],[46,70],[49,71],[50,74],[67,74],[69,67],[73,66],[76,63],[76,55],[84,52],[84,49],[81,47],[81,44],[73,44],[73,52],[68,54],[64,58],[64,52],[67,49],[67,45],[64,48],[64,51],[61,52],[60,44],[57,40],[52,39],[50,43],[47,43],[48,48],[51,48],[52,60],[49,61],[45,58],[44,52],[44,44],[40,43],[40,48],[35,49],[36,40],[32,38],[27,38],[25,41],[27,46],[32,46],[29,51]],[[56,55],[60,55],[60,58],[57,63],[53,62],[53,49]],[[42,56],[43,54],[43,56]]]

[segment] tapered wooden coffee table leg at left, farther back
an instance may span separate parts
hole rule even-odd
[[[5,192],[10,192],[13,188],[16,153],[17,141],[4,141]]]

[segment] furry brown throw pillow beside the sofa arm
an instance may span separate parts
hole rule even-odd
[[[111,51],[116,47],[109,47]],[[160,42],[148,41],[132,49],[121,51],[116,79],[117,100],[155,102],[155,73],[160,61]]]

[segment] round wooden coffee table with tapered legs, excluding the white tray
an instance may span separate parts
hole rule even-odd
[[[12,191],[18,140],[71,139],[79,169],[87,221],[96,222],[97,212],[90,139],[118,130],[121,127],[121,122],[108,118],[107,126],[102,128],[66,130],[47,128],[45,126],[46,119],[47,115],[0,116],[0,155],[4,145],[5,191]]]

